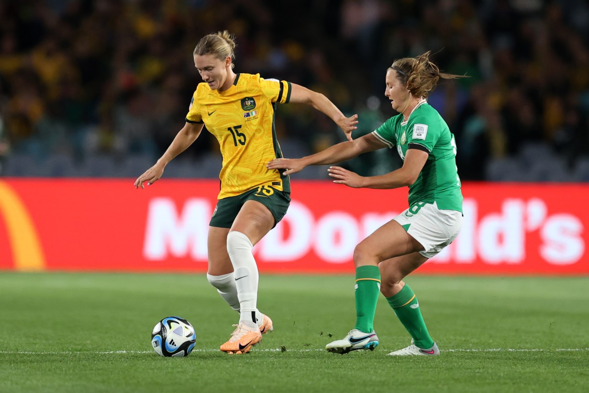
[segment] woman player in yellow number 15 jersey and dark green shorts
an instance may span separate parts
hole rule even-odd
[[[135,188],[160,179],[166,164],[186,150],[203,126],[219,141],[223,167],[221,190],[209,226],[207,279],[240,312],[231,338],[221,345],[228,354],[243,354],[272,331],[270,318],[257,309],[258,271],[252,247],[282,219],[290,203],[290,179],[266,163],[282,157],[274,130],[276,104],[312,105],[342,128],[348,140],[357,115],[345,117],[325,95],[287,81],[264,80],[259,74],[233,72],[234,38],[209,34],[194,49],[194,67],[203,78],[193,94],[186,124]]]

